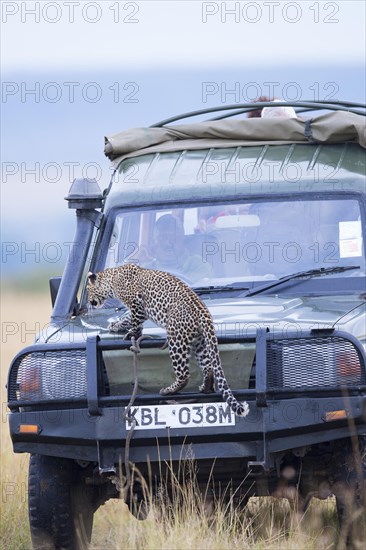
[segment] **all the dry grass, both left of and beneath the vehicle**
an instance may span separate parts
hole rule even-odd
[[[12,452],[4,385],[12,357],[32,343],[32,331],[46,326],[49,313],[47,294],[11,291],[3,295],[0,548],[4,550],[31,548],[27,514],[28,455]],[[121,501],[108,501],[95,515],[92,549],[325,550],[335,547],[332,500],[313,501],[305,516],[293,512],[286,501],[271,498],[250,499],[245,513],[235,509],[225,513],[225,507],[218,504],[213,514],[206,514],[195,487],[188,484],[177,503],[173,502],[172,508],[164,503],[155,506],[145,521],[139,521]]]

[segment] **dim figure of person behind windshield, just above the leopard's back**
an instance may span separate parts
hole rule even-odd
[[[191,281],[211,275],[210,264],[187,249],[183,224],[173,214],[164,214],[156,221],[151,252],[153,258],[144,267],[186,275]]]

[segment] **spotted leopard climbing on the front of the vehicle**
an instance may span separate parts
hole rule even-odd
[[[247,416],[248,403],[237,401],[226,380],[211,313],[194,290],[179,277],[126,263],[90,272],[87,292],[92,308],[102,307],[107,299],[115,298],[129,309],[127,317],[109,324],[110,332],[126,332],[128,329],[125,338],[138,340],[147,319],[166,330],[166,347],[175,380],[160,390],[161,395],[175,394],[185,388],[193,353],[203,374],[199,390],[213,392],[216,383],[231,410],[237,416]]]

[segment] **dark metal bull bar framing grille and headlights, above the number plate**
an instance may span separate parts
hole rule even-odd
[[[283,369],[283,356],[284,352],[282,350],[295,350],[296,345],[306,345],[307,349],[310,350],[308,363],[306,363],[306,368],[310,368],[314,364],[314,351],[316,350],[317,345],[328,345],[332,346],[334,343],[337,345],[341,344],[341,349],[345,354],[348,354],[347,357],[349,360],[358,359],[360,364],[360,373],[346,380],[346,383],[343,382],[344,386],[347,386],[348,389],[354,389],[356,391],[366,391],[366,354],[365,350],[357,338],[352,335],[334,330],[313,330],[302,332],[301,336],[297,333],[288,333],[286,336],[283,336],[283,333],[279,332],[270,332],[265,328],[258,329],[256,333],[249,334],[244,336],[240,335],[230,335],[230,336],[221,336],[218,338],[219,344],[230,344],[230,343],[245,343],[245,342],[254,342],[256,343],[256,386],[255,389],[245,389],[245,390],[235,390],[234,393],[238,398],[243,399],[255,399],[257,407],[266,407],[267,400],[269,395],[281,394],[282,398],[286,397],[286,394],[304,394],[304,392],[314,393],[316,392],[320,395],[322,392],[327,392],[329,396],[330,391],[340,392],[342,385],[342,378],[335,378],[334,383],[332,380],[329,381],[327,385],[311,385],[304,386],[286,386],[286,383],[282,379],[280,383],[278,382],[278,370],[282,365],[282,376],[286,376],[286,373]],[[312,346],[310,347],[311,344]],[[162,340],[161,339],[149,339],[143,340],[141,342],[141,349],[144,348],[161,348]],[[131,347],[130,340],[123,340],[122,338],[114,338],[113,340],[101,341],[99,336],[94,333],[86,338],[86,341],[74,344],[35,344],[23,349],[13,360],[9,371],[8,379],[8,406],[11,410],[18,410],[20,406],[35,406],[35,405],[56,405],[62,404],[65,405],[86,405],[88,412],[92,416],[101,415],[101,406],[105,403],[120,403],[123,400],[129,399],[130,395],[126,396],[110,396],[110,397],[101,397],[99,396],[98,386],[101,381],[102,373],[98,369],[98,353],[101,350],[116,350],[116,349],[129,349]],[[63,352],[77,351],[84,352],[85,354],[85,369],[86,369],[86,393],[83,397],[70,399],[38,399],[38,400],[21,400],[17,397],[19,392],[19,381],[18,381],[18,371],[21,365],[22,360],[30,354],[37,354],[37,359],[39,360],[40,355],[43,353],[46,357],[47,354],[54,353],[56,354],[57,360],[65,360],[65,354]],[[296,359],[296,353],[293,352],[294,360]],[[59,358],[57,357],[59,354]],[[277,355],[276,355],[277,354]],[[83,355],[83,353],[81,353]],[[277,357],[277,359],[276,359]],[[72,356],[71,356],[72,359]],[[291,359],[291,355],[290,355]],[[305,357],[306,359],[306,357]],[[316,357],[315,357],[316,359]],[[282,361],[282,363],[281,363]],[[299,363],[299,362],[298,362]],[[319,370],[319,379],[322,379],[321,365],[316,365]],[[295,366],[294,366],[295,368]],[[298,365],[296,366],[298,368]],[[293,369],[292,369],[293,371]],[[276,374],[277,373],[277,374]],[[284,374],[285,373],[285,374]],[[301,373],[299,373],[300,376]],[[79,376],[85,376],[83,372]],[[288,374],[287,374],[288,376]],[[296,373],[295,373],[296,376]],[[186,399],[193,397],[196,394],[190,394],[188,392],[177,394],[175,398]],[[218,394],[217,394],[218,395]],[[203,401],[208,401],[212,399],[215,394],[200,394],[200,399]],[[139,401],[141,402],[163,402],[164,400],[171,399],[171,396],[162,396],[160,394],[151,394],[139,396]]]

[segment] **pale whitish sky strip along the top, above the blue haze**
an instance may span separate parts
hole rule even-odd
[[[365,2],[7,2],[2,69],[359,63]]]

